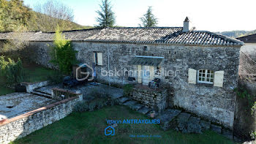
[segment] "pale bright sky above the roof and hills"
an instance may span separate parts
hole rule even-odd
[[[24,0],[33,8],[47,0]],[[75,23],[97,24],[101,0],[59,0],[74,10]],[[110,0],[117,26],[138,26],[148,6],[158,18],[157,26],[183,26],[188,16],[197,30],[233,31],[256,29],[255,0]]]

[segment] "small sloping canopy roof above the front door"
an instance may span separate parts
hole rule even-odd
[[[143,66],[154,66],[157,67],[162,62],[163,58],[154,56],[135,56],[131,61],[128,62],[130,65],[143,65]]]

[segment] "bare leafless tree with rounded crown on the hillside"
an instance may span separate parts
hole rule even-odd
[[[61,1],[46,1],[44,4],[37,4],[35,11],[37,27],[41,31],[55,31],[57,25],[61,31],[72,29],[73,10]]]

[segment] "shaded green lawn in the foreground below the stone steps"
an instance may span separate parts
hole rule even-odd
[[[114,136],[105,136],[104,129],[108,126],[106,119],[148,118],[125,106],[105,107],[94,112],[72,113],[13,143],[233,143],[215,132],[208,131],[203,134],[182,134],[173,130],[164,132],[157,124],[118,124]],[[124,132],[125,129],[126,132]],[[129,137],[130,134],[151,134],[161,137]]]

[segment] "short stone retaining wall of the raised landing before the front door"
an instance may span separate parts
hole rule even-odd
[[[146,107],[157,109],[158,111],[165,110],[167,107],[167,89],[149,89],[149,88],[133,88],[130,98],[140,102]]]

